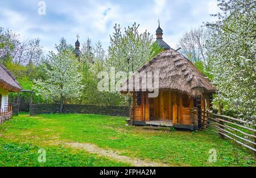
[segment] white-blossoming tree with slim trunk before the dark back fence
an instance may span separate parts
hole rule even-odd
[[[60,113],[65,98],[77,99],[84,86],[75,54],[72,49],[60,49],[57,54],[50,52],[48,66],[45,67],[47,79],[35,80],[34,89],[46,99],[60,101]]]

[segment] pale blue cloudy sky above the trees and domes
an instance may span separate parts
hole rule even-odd
[[[217,0],[0,0],[0,27],[21,40],[39,38],[45,52],[54,51],[61,37],[75,45],[77,34],[80,43],[90,37],[107,50],[115,23],[124,29],[136,22],[139,32],[155,37],[160,19],[163,40],[175,48],[185,32],[212,22],[216,12]]]

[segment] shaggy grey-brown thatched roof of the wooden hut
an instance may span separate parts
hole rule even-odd
[[[216,88],[191,61],[173,49],[165,50],[145,63],[138,73],[159,71],[159,89],[179,91],[190,96],[199,96],[206,92],[215,92]],[[131,78],[138,77],[138,73],[131,75],[122,84],[122,92],[141,90],[142,80],[133,82],[134,88],[129,88]],[[152,75],[154,81],[154,75]],[[129,89],[127,89],[129,88]],[[135,91],[136,91],[135,90]]]

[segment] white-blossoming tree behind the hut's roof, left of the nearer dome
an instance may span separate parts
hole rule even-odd
[[[145,31],[138,32],[136,23],[132,27],[125,28],[122,35],[121,28],[114,26],[114,33],[110,36],[109,59],[107,66],[114,66],[118,71],[133,73],[146,63],[150,58],[153,37]]]

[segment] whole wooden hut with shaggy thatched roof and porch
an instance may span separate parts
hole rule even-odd
[[[159,94],[156,98],[148,97],[150,91],[142,88],[142,79],[134,80],[139,74],[148,71],[159,71],[159,86],[155,88],[159,89]],[[133,88],[128,87],[130,80],[133,81]],[[191,61],[173,49],[152,58],[131,75],[122,87],[122,92],[130,93],[133,97],[130,124],[174,126],[191,130],[200,128],[200,123],[192,120],[192,109],[198,108],[200,116],[201,111],[210,107],[210,99],[215,91],[210,80]]]

